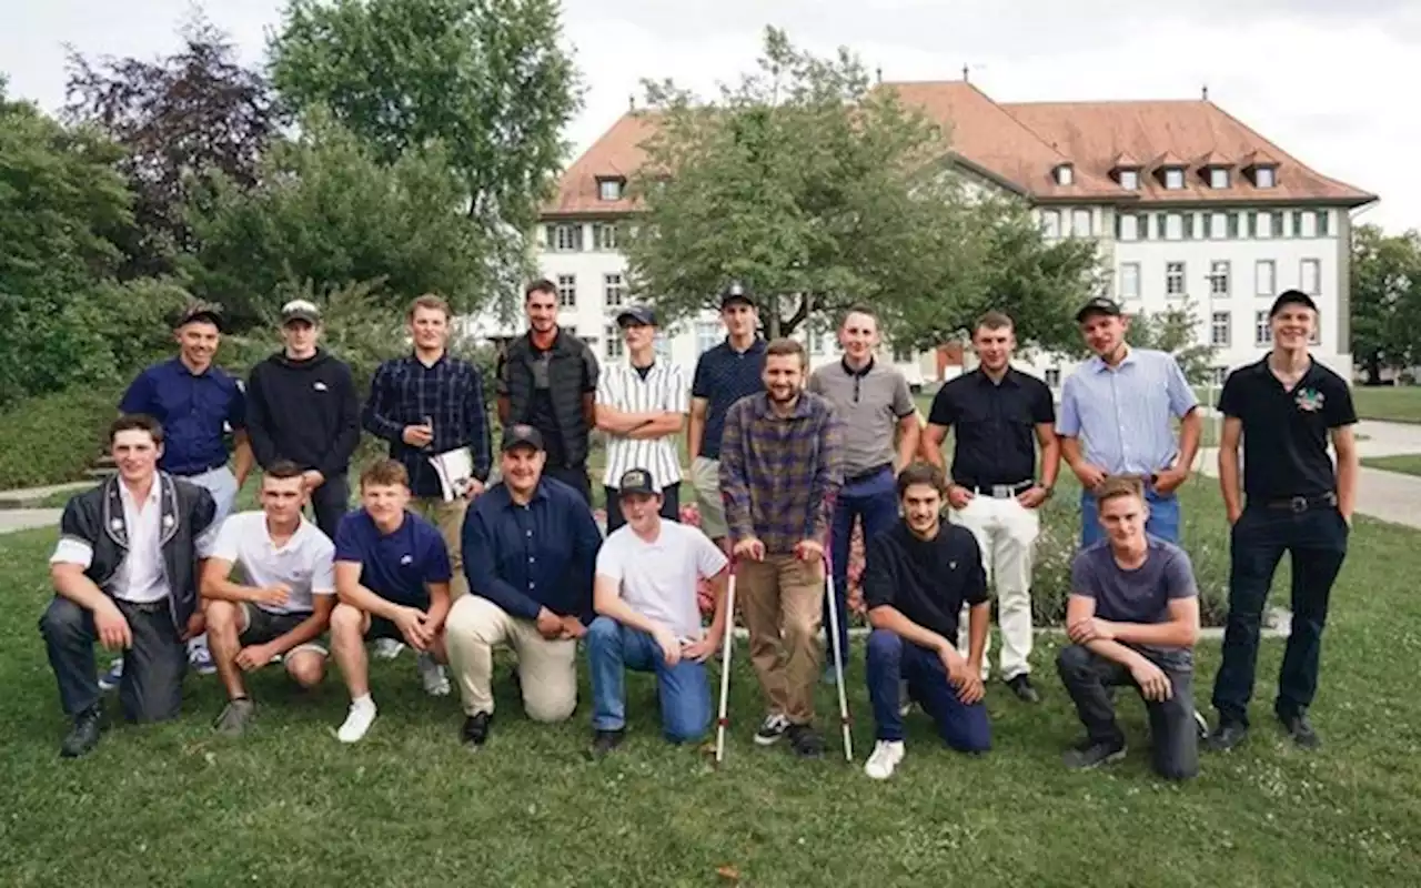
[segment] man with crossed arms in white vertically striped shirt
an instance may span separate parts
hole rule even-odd
[[[627,364],[608,365],[597,384],[597,428],[607,435],[607,531],[627,523],[617,492],[632,469],[647,469],[661,490],[661,517],[681,514],[681,455],[676,435],[686,419],[689,392],[681,367],[657,359],[657,315],[632,305],[617,315]]]

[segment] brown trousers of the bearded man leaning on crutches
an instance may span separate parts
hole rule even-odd
[[[823,649],[824,563],[794,556],[739,561],[736,592],[750,632],[750,662],[770,712],[809,725]]]

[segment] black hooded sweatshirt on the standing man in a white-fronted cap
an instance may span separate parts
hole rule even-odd
[[[360,445],[360,399],[351,368],[328,351],[293,361],[277,352],[252,368],[247,435],[257,465],[290,459],[325,477],[342,475]]]

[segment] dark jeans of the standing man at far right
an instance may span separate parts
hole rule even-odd
[[[1334,507],[1306,511],[1249,504],[1229,531],[1229,618],[1223,629],[1223,664],[1214,679],[1214,708],[1219,719],[1248,725],[1258,668],[1259,627],[1273,571],[1292,554],[1293,625],[1283,649],[1273,708],[1299,715],[1317,692],[1323,627],[1333,581],[1347,557],[1347,521]]]

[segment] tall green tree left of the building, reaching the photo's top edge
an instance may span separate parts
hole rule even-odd
[[[510,296],[580,107],[556,0],[290,0],[271,78],[394,163],[441,142]]]

